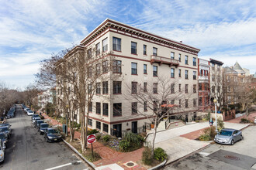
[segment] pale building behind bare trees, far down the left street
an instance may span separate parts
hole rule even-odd
[[[55,88],[38,93],[37,100],[38,106],[45,108],[47,103],[54,104],[54,98],[56,97]]]

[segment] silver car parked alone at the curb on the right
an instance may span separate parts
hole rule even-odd
[[[235,142],[243,139],[242,132],[235,129],[223,129],[216,134],[214,141],[220,144],[234,145]]]

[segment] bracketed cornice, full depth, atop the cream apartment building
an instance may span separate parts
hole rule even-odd
[[[99,34],[104,32],[106,29],[117,29],[120,32],[126,32],[128,35],[130,34],[140,36],[143,39],[149,39],[152,42],[158,42],[160,45],[164,44],[172,46],[175,49],[183,49],[185,51],[195,53],[195,55],[200,51],[200,49],[185,45],[182,42],[176,42],[172,39],[166,39],[162,36],[157,36],[153,33],[125,25],[121,22],[116,22],[112,19],[106,19],[104,22],[102,22],[96,29],[94,29],[88,36],[86,36],[85,39],[81,41],[81,45],[86,46],[89,42],[92,42],[93,39],[99,36]]]

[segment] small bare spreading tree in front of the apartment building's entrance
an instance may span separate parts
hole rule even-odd
[[[189,103],[191,103],[189,99],[192,97],[192,90],[189,93],[189,89],[184,90],[179,86],[177,81],[171,81],[169,77],[164,76],[158,76],[157,80],[147,82],[147,84],[126,84],[125,98],[131,102],[132,112],[137,116],[147,117],[151,122],[154,122],[155,128],[151,141],[152,156],[154,155],[157,125],[164,117],[170,117],[172,112],[178,114],[187,111]],[[185,103],[183,111],[179,107],[182,100]],[[145,110],[147,111],[145,112]]]

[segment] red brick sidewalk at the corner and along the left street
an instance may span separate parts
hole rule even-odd
[[[43,114],[43,117],[45,117],[45,119],[49,119],[50,123],[53,125],[58,124],[62,126],[60,122],[53,119],[52,117],[48,117],[47,114]],[[75,131],[74,138],[80,139],[80,132]],[[88,148],[91,148],[91,145],[88,145]],[[122,166],[122,168],[124,169],[147,169],[144,168],[139,163],[139,161],[142,158],[142,152],[144,151],[144,148],[140,148],[136,151],[131,152],[118,152],[96,141],[95,143],[93,143],[93,151],[99,153],[99,155],[102,157],[102,159],[100,159],[99,161],[93,162],[93,164],[97,167],[116,163],[117,165]],[[123,165],[124,163],[130,161],[137,163],[137,165],[134,166],[133,168],[128,168],[125,165]]]

